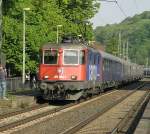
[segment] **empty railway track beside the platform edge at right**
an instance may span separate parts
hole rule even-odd
[[[132,92],[131,94],[118,100],[114,104],[108,106],[106,109],[103,109],[97,114],[90,116],[86,120],[78,123],[75,126],[72,126],[70,129],[64,131],[61,134],[133,133],[138,120],[140,119],[149,100],[150,90],[145,91],[145,93],[141,93],[141,91]],[[121,110],[121,106],[123,108],[123,106],[127,103],[131,103],[132,106],[130,106],[130,108],[128,107],[128,109],[124,109],[123,111],[126,111],[125,114],[120,116],[120,114],[122,113],[119,112],[119,109]],[[118,112],[116,109],[118,110]]]

